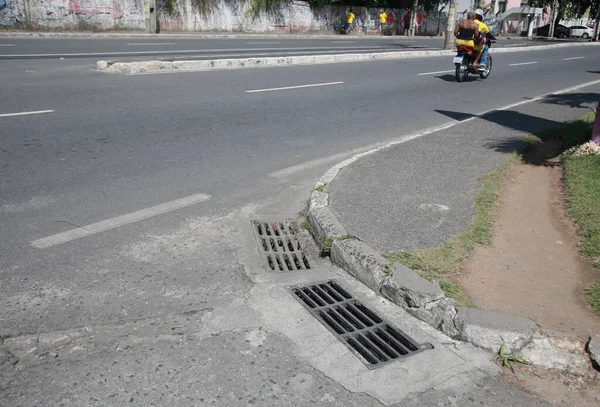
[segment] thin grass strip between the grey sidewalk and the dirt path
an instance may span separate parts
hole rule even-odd
[[[444,275],[457,273],[465,258],[476,244],[492,243],[492,222],[494,205],[510,165],[516,159],[512,156],[496,170],[479,178],[481,191],[475,198],[475,215],[469,229],[448,239],[442,247],[413,250],[406,253],[384,256],[392,261],[404,264],[408,268],[424,274]],[[458,286],[457,286],[458,288]]]

